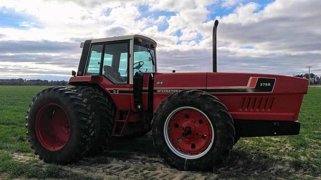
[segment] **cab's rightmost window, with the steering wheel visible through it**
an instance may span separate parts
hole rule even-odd
[[[148,45],[134,44],[133,74],[138,71],[155,72],[154,60],[154,50],[152,48],[149,48]]]

